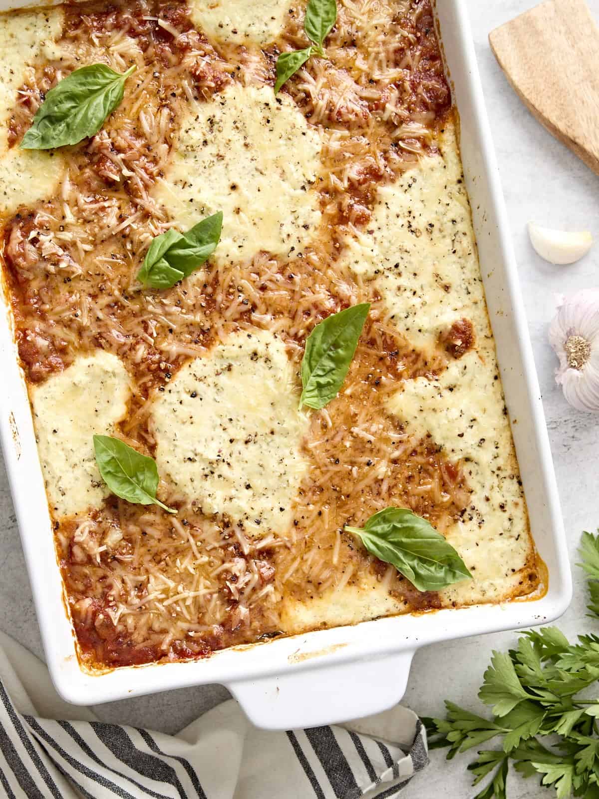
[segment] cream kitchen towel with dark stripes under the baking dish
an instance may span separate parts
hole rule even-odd
[[[2,634],[0,679],[9,799],[391,799],[428,761],[422,724],[402,707],[272,733],[230,701],[170,736],[62,702],[42,662]]]

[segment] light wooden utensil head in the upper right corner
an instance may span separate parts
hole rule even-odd
[[[553,136],[599,175],[599,28],[584,0],[548,0],[494,30],[510,84]]]

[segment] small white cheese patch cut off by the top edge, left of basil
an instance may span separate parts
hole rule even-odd
[[[218,42],[267,45],[277,38],[290,0],[191,0],[194,25]]]

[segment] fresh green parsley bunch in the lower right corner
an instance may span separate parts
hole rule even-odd
[[[589,616],[599,618],[599,535],[585,532],[580,554],[589,577]],[[489,777],[474,799],[506,799],[510,765],[553,786],[557,799],[599,799],[598,681],[599,636],[581,635],[570,644],[557,627],[530,630],[517,649],[494,652],[485,672],[478,697],[493,718],[446,702],[446,718],[424,719],[430,749],[449,747],[451,759],[499,740],[501,749],[479,749],[468,766],[474,785]]]

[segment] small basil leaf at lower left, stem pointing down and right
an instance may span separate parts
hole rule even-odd
[[[158,505],[177,513],[156,498],[158,468],[153,458],[109,435],[94,435],[93,450],[102,479],[113,494],[137,505]]]

